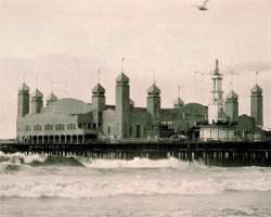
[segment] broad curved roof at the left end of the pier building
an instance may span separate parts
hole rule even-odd
[[[53,112],[61,114],[87,114],[91,112],[91,105],[80,100],[64,98],[51,103],[44,108],[44,112]]]

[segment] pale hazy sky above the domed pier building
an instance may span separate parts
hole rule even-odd
[[[53,91],[91,102],[100,68],[106,103],[115,104],[122,58],[136,106],[145,106],[155,79],[163,107],[172,107],[178,86],[185,103],[208,105],[207,74],[218,59],[224,93],[237,92],[240,114],[250,113],[250,88],[261,86],[263,122],[271,127],[271,1],[210,0],[208,11],[197,10],[201,3],[0,0],[0,138],[16,135],[23,80],[46,97]]]

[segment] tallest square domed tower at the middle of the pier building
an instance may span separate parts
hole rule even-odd
[[[121,73],[116,78],[117,131],[120,139],[128,137],[130,110],[130,86],[127,75]]]

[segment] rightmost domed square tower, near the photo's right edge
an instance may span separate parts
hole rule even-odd
[[[256,125],[262,126],[262,89],[256,85],[250,92],[250,116],[254,117]]]

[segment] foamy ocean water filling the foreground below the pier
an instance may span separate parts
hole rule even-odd
[[[0,152],[0,216],[268,217],[271,168]]]

